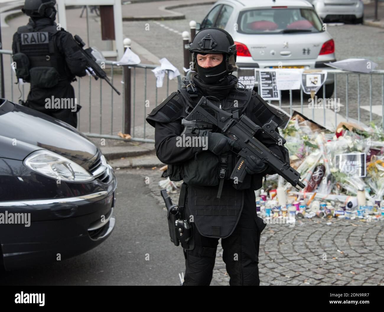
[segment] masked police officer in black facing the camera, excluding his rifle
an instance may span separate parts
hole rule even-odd
[[[237,77],[232,75],[237,69],[237,50],[226,31],[200,31],[189,51],[193,53],[192,70],[197,72],[193,82],[173,92],[146,119],[155,127],[156,154],[168,164],[170,180],[184,181],[179,209],[193,234],[181,244],[185,256],[183,286],[210,284],[219,238],[230,285],[259,285],[258,253],[265,224],[256,213],[254,190],[262,187],[263,176],[273,174],[273,168],[248,156],[243,164],[245,180],[235,183],[230,174],[238,161],[238,146],[220,130],[185,134],[207,137],[207,150],[202,146],[180,147],[176,141],[184,130],[181,120],[203,96],[226,112],[236,116],[244,113],[259,126],[270,120],[280,126],[284,114],[270,107],[255,91],[237,87]],[[267,135],[261,133],[256,138],[284,161],[288,157],[286,149]]]

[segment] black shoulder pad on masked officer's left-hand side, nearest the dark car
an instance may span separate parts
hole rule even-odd
[[[172,92],[167,99],[148,114],[146,121],[152,127],[155,126],[155,122],[169,123],[179,118],[184,110],[184,100],[180,92]]]

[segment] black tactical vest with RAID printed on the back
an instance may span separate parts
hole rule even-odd
[[[30,82],[31,88],[51,88],[68,80],[65,58],[56,47],[56,26],[35,30],[31,25],[18,28],[15,71],[18,78]]]

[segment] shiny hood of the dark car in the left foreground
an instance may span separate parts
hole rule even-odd
[[[22,160],[35,146],[34,150],[48,149],[82,165],[98,153],[92,141],[67,123],[3,99],[0,99],[0,136],[0,157],[5,158]],[[11,143],[9,147],[3,144],[6,142]]]

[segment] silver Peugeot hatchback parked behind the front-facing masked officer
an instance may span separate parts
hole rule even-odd
[[[221,0],[197,30],[219,27],[236,43],[239,68],[323,69],[336,61],[334,41],[314,7],[303,0]],[[279,66],[280,65],[280,66]],[[334,75],[326,80],[333,94]],[[322,89],[319,90],[322,94]]]

